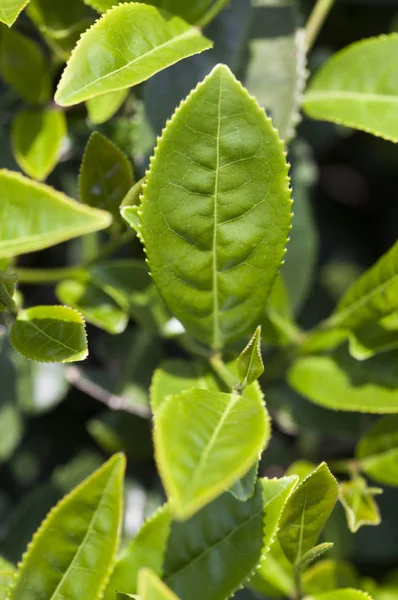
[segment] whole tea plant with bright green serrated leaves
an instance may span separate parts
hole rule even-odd
[[[11,144],[25,173],[0,172],[2,352],[25,369],[32,367],[23,357],[82,361],[86,321],[118,335],[132,319],[141,337],[128,351],[138,370],[141,355],[155,353],[159,340],[175,344],[178,357],[155,365],[150,386],[167,499],[122,544],[125,458],[115,454],[49,512],[17,566],[2,559],[0,596],[223,600],[246,586],[271,597],[384,598],[382,586],[323,555],[333,546],[327,534],[337,501],[356,532],[381,520],[375,497],[382,490],[366,477],[398,485],[398,245],[352,284],[328,318],[303,331],[291,307],[300,300],[289,299],[290,235],[291,252],[297,242],[287,152],[300,195],[293,139],[301,106],[312,118],[398,141],[398,35],[354,43],[307,85],[306,56],[332,2],[318,0],[304,30],[293,1],[257,0],[247,12],[261,9],[266,17],[270,7],[280,9],[292,32],[251,40],[243,77],[249,91],[233,74],[237,67],[213,66],[216,44],[212,59],[197,63],[205,76],[163,123],[140,178],[138,155],[133,169],[104,135],[112,131],[105,124],[120,111],[130,114],[131,102],[138,118],[140,96],[132,100],[130,88],[150,86],[160,81],[148,81],[156,74],[208,51],[211,30],[203,27],[223,9],[227,14],[228,2],[86,4],[0,0],[0,19],[12,26],[1,30],[0,68],[17,106]],[[23,10],[30,21],[18,18]],[[101,13],[97,20],[94,11]],[[161,113],[162,97],[155,100]],[[88,140],[77,201],[43,181],[60,158],[68,159],[69,115],[83,102],[91,128],[103,128]],[[138,135],[152,142],[145,119]],[[150,149],[142,142],[142,156]],[[33,269],[18,261],[81,236],[80,260],[72,266]],[[130,255],[119,258],[127,248]],[[55,284],[60,304],[25,305],[25,284]],[[299,285],[305,295],[304,279]],[[112,354],[109,345],[106,352]],[[125,410],[119,416],[128,425],[131,413],[149,413],[137,388],[127,396],[130,366],[115,393],[76,367],[65,373],[70,383]],[[299,461],[284,476],[264,477],[267,394],[285,380],[326,409],[387,416],[359,440],[354,457],[329,466]],[[94,437],[113,451],[119,438],[112,428],[92,425]],[[131,445],[133,432],[125,431]],[[11,441],[9,454],[13,449]],[[391,581],[398,594],[394,575]]]

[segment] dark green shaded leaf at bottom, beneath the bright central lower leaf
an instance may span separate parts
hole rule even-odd
[[[261,558],[263,515],[258,482],[247,502],[226,493],[188,521],[173,522],[164,561],[165,583],[182,600],[229,598]]]

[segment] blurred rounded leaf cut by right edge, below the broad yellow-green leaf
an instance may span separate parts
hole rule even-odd
[[[398,486],[398,416],[379,419],[359,441],[355,456],[366,475]]]

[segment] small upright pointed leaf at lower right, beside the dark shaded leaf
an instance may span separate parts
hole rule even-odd
[[[337,496],[337,482],[326,463],[322,463],[289,498],[278,535],[292,564],[298,565],[317,543]]]

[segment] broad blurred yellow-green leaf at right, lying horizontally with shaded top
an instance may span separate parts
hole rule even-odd
[[[293,363],[289,384],[332,410],[398,413],[396,359],[390,352],[358,362],[344,349],[332,356],[306,356]]]

